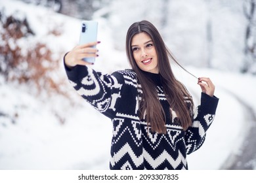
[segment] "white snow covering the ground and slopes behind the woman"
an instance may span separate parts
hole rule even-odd
[[[61,57],[77,44],[80,20],[20,1],[2,0],[1,7],[6,8],[7,14],[16,10],[26,14],[36,33],[36,37],[28,39],[46,42],[54,52],[61,55],[58,76],[65,78]],[[189,9],[188,6],[186,8]],[[205,11],[205,7],[202,9]],[[117,17],[112,16],[112,19],[116,21]],[[129,67],[125,52],[120,48],[115,49],[108,22],[103,18],[96,20],[99,22],[98,39],[102,42],[98,45],[100,57],[93,68],[111,73]],[[237,23],[232,25],[237,26]],[[62,35],[49,36],[49,30],[54,27],[58,27]],[[224,51],[216,50],[220,52],[216,59],[226,59]],[[197,57],[192,52],[189,56]],[[196,84],[197,80],[175,65],[173,69],[177,78],[192,93],[195,103],[199,104],[200,87]],[[253,96],[256,93],[256,78],[217,69],[193,66],[186,69],[196,76],[209,76],[216,86],[215,95],[220,99],[205,143],[188,156],[189,169],[221,169],[230,154],[239,154],[245,135],[253,125],[246,120],[247,112],[234,96],[255,112],[256,97]],[[33,89],[28,86],[7,83],[0,76],[0,169],[108,169],[112,137],[110,120],[85,103],[68,81],[65,87],[72,96],[72,103],[60,95],[48,99],[45,95],[33,95]],[[60,123],[60,120],[64,123]]]

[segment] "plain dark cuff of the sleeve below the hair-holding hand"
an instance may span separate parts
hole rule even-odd
[[[215,114],[217,105],[219,103],[219,98],[207,95],[206,93],[201,93],[201,105],[200,108],[203,109],[208,114]]]

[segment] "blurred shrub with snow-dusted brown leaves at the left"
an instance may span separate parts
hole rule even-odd
[[[33,42],[33,45],[22,48],[23,44],[31,44],[26,37],[35,33],[30,28],[26,18],[19,20],[14,16],[5,17],[1,12],[0,29],[0,74],[7,81],[17,80],[19,83],[32,84],[37,92],[46,90],[48,93],[61,91],[63,81],[54,80],[53,74],[58,70],[58,59],[53,58],[53,52],[45,43]],[[51,30],[59,35],[59,30]]]

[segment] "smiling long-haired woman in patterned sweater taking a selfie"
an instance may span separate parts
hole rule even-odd
[[[102,75],[81,59],[97,57],[92,42],[64,56],[75,90],[111,118],[110,169],[188,169],[186,154],[200,148],[213,122],[219,99],[209,78],[199,78],[201,105],[194,103],[173,72],[160,33],[148,21],[127,31],[126,52],[132,69]],[[177,61],[175,61],[177,62]]]

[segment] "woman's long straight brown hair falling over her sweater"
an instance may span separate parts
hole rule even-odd
[[[126,53],[132,69],[137,74],[139,84],[142,88],[142,100],[140,101],[140,119],[144,118],[146,114],[146,122],[151,125],[151,130],[158,133],[166,133],[165,127],[165,112],[158,99],[158,92],[152,80],[145,76],[142,70],[138,67],[133,58],[133,51],[131,48],[131,40],[134,35],[138,33],[147,33],[154,42],[156,53],[158,55],[158,69],[163,84],[163,92],[170,105],[175,110],[180,120],[182,128],[186,130],[192,124],[192,116],[189,108],[185,103],[185,98],[190,101],[190,107],[194,108],[192,97],[186,88],[173,75],[169,58],[173,59],[180,67],[182,67],[177,60],[171,55],[171,52],[165,46],[163,39],[156,27],[146,20],[135,22],[132,24],[126,37]],[[184,69],[182,67],[182,69]],[[184,69],[186,71],[186,69]]]

